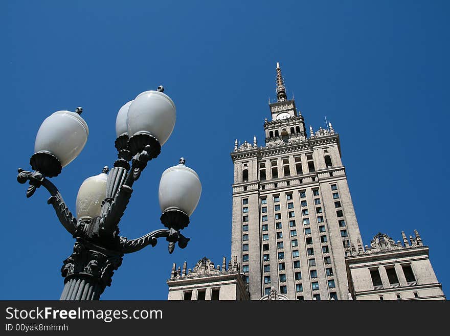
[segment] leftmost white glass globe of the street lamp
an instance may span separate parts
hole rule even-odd
[[[80,115],[71,111],[57,111],[40,125],[34,152],[50,152],[64,167],[78,156],[88,135],[89,128]]]

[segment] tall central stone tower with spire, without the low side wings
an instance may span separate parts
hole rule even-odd
[[[277,63],[277,101],[265,119],[265,147],[236,140],[231,255],[238,256],[250,299],[278,293],[291,300],[347,300],[346,249],[361,241],[329,123],[307,132],[287,99]]]

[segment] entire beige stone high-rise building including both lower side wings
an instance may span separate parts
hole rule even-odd
[[[445,300],[417,231],[363,248],[338,133],[306,132],[278,63],[276,91],[265,146],[253,137],[231,152],[233,263],[173,264],[168,299]]]

